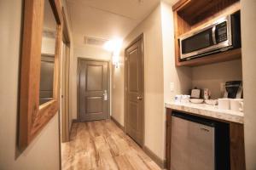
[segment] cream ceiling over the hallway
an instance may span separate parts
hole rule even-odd
[[[160,0],[67,0],[74,43],[82,46],[84,36],[124,38],[159,3]]]

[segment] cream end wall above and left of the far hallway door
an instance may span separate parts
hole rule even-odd
[[[78,69],[78,58],[86,58],[86,59],[102,59],[102,60],[111,60],[112,54],[103,48],[94,47],[94,46],[75,46],[73,49],[73,59],[71,61],[71,112],[72,118],[77,119],[78,108],[77,108],[77,69]],[[111,68],[109,68],[111,71]],[[111,112],[110,112],[111,114]]]

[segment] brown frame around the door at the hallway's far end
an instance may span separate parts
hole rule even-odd
[[[108,119],[110,119],[110,60],[108,59],[91,59],[91,58],[84,58],[78,57],[78,68],[77,68],[77,121],[80,122],[80,90],[79,90],[79,82],[80,82],[80,61],[96,61],[96,62],[107,62],[108,63]]]

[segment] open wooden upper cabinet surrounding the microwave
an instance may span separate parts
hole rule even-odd
[[[175,61],[177,66],[197,66],[241,58],[241,48],[205,57],[180,61],[178,38],[190,31],[209,25],[227,14],[240,10],[239,0],[180,0],[172,7],[175,35]]]

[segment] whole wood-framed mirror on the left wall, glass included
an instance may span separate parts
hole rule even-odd
[[[20,63],[20,150],[26,149],[59,110],[61,4],[25,0]]]

